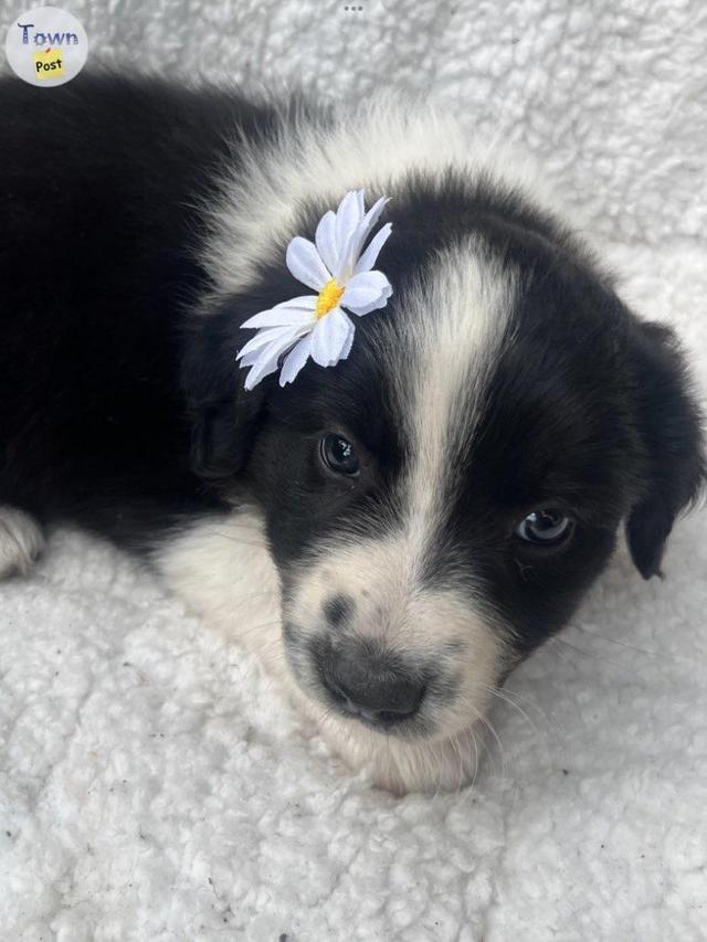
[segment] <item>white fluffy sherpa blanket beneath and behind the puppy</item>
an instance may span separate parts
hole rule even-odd
[[[433,87],[506,128],[707,388],[704,4],[361,4],[63,6],[104,60]],[[704,940],[706,523],[678,523],[664,581],[619,551],[510,678],[474,787],[403,800],[346,775],[150,573],[56,534],[0,584],[0,939]]]

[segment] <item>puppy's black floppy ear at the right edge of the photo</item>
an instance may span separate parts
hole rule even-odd
[[[646,449],[645,490],[626,521],[631,557],[643,575],[661,575],[677,515],[706,480],[701,417],[677,338],[659,324],[634,321],[639,433]]]

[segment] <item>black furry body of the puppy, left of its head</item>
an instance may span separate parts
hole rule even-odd
[[[179,383],[209,285],[198,207],[234,126],[272,113],[157,80],[44,91],[0,83],[0,500],[141,542],[214,501]]]

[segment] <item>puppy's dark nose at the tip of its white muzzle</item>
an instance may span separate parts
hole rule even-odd
[[[320,677],[346,712],[381,727],[414,717],[424,698],[422,680],[394,661],[363,652],[329,652],[320,663]]]

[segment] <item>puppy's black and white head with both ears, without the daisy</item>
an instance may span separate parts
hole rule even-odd
[[[250,393],[226,369],[238,324],[297,294],[276,263],[202,325],[194,454],[263,508],[299,690],[349,737],[414,750],[483,716],[622,521],[657,573],[704,466],[672,334],[634,318],[558,224],[451,181],[410,184],[389,218],[393,297],[335,368]]]

